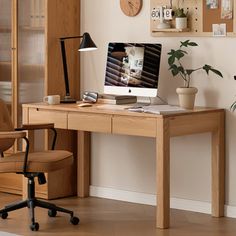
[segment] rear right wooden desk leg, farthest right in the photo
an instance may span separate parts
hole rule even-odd
[[[224,113],[219,113],[218,130],[212,132],[212,216],[224,216],[225,195]]]

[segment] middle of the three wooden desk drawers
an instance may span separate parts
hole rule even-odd
[[[68,129],[111,133],[111,115],[69,113]]]

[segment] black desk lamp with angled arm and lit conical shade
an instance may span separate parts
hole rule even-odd
[[[60,38],[61,55],[62,55],[63,71],[64,71],[64,81],[65,81],[65,89],[66,89],[66,96],[63,100],[61,100],[61,103],[75,103],[76,102],[76,100],[71,98],[70,96],[70,87],[69,87],[68,71],[67,71],[67,63],[66,63],[66,49],[65,49],[65,40],[75,39],[75,38],[83,38],[78,51],[92,51],[92,50],[97,49],[89,33],[84,33],[82,36]]]

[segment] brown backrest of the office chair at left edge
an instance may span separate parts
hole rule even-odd
[[[6,104],[0,99],[0,131],[13,131],[14,127]],[[0,139],[0,154],[14,144],[15,139]]]

